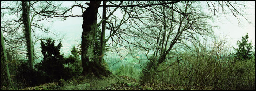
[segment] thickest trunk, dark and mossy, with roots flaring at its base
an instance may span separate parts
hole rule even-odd
[[[106,70],[98,62],[98,58],[94,56],[94,43],[95,43],[95,34],[97,29],[97,13],[101,1],[90,1],[89,7],[86,11],[83,12],[83,32],[82,32],[82,41],[81,41],[81,61],[83,72],[81,75],[90,75],[91,73],[95,74],[99,78],[102,78],[101,75],[108,76],[110,71]]]

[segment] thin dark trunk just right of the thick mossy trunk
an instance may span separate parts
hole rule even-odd
[[[103,5],[106,5],[107,1],[103,1]],[[104,19],[104,21],[102,21],[102,29],[101,29],[101,49],[99,52],[100,58],[99,58],[99,62],[101,64],[103,64],[104,62],[104,48],[105,48],[105,30],[106,30],[106,6],[103,6],[103,12],[102,12],[102,19]]]

